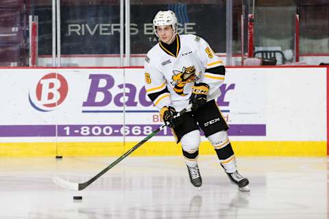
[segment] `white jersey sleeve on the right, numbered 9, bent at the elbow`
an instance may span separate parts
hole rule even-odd
[[[210,101],[221,94],[219,87],[221,86],[221,83],[223,83],[225,75],[208,73],[207,69],[223,66],[223,61],[215,55],[208,42],[202,38],[199,40],[198,56],[199,59],[202,60],[204,68],[206,68],[200,82],[207,83],[209,85],[208,101]]]

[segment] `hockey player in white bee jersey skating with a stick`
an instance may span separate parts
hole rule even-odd
[[[225,77],[223,62],[199,36],[178,35],[178,23],[172,11],[160,11],[154,21],[159,39],[145,58],[145,88],[160,116],[182,143],[184,160],[191,183],[202,185],[197,165],[200,131],[214,146],[221,166],[239,190],[249,191],[249,181],[236,170],[236,158],[228,139],[228,125],[215,99]],[[174,116],[188,104],[191,112]]]

